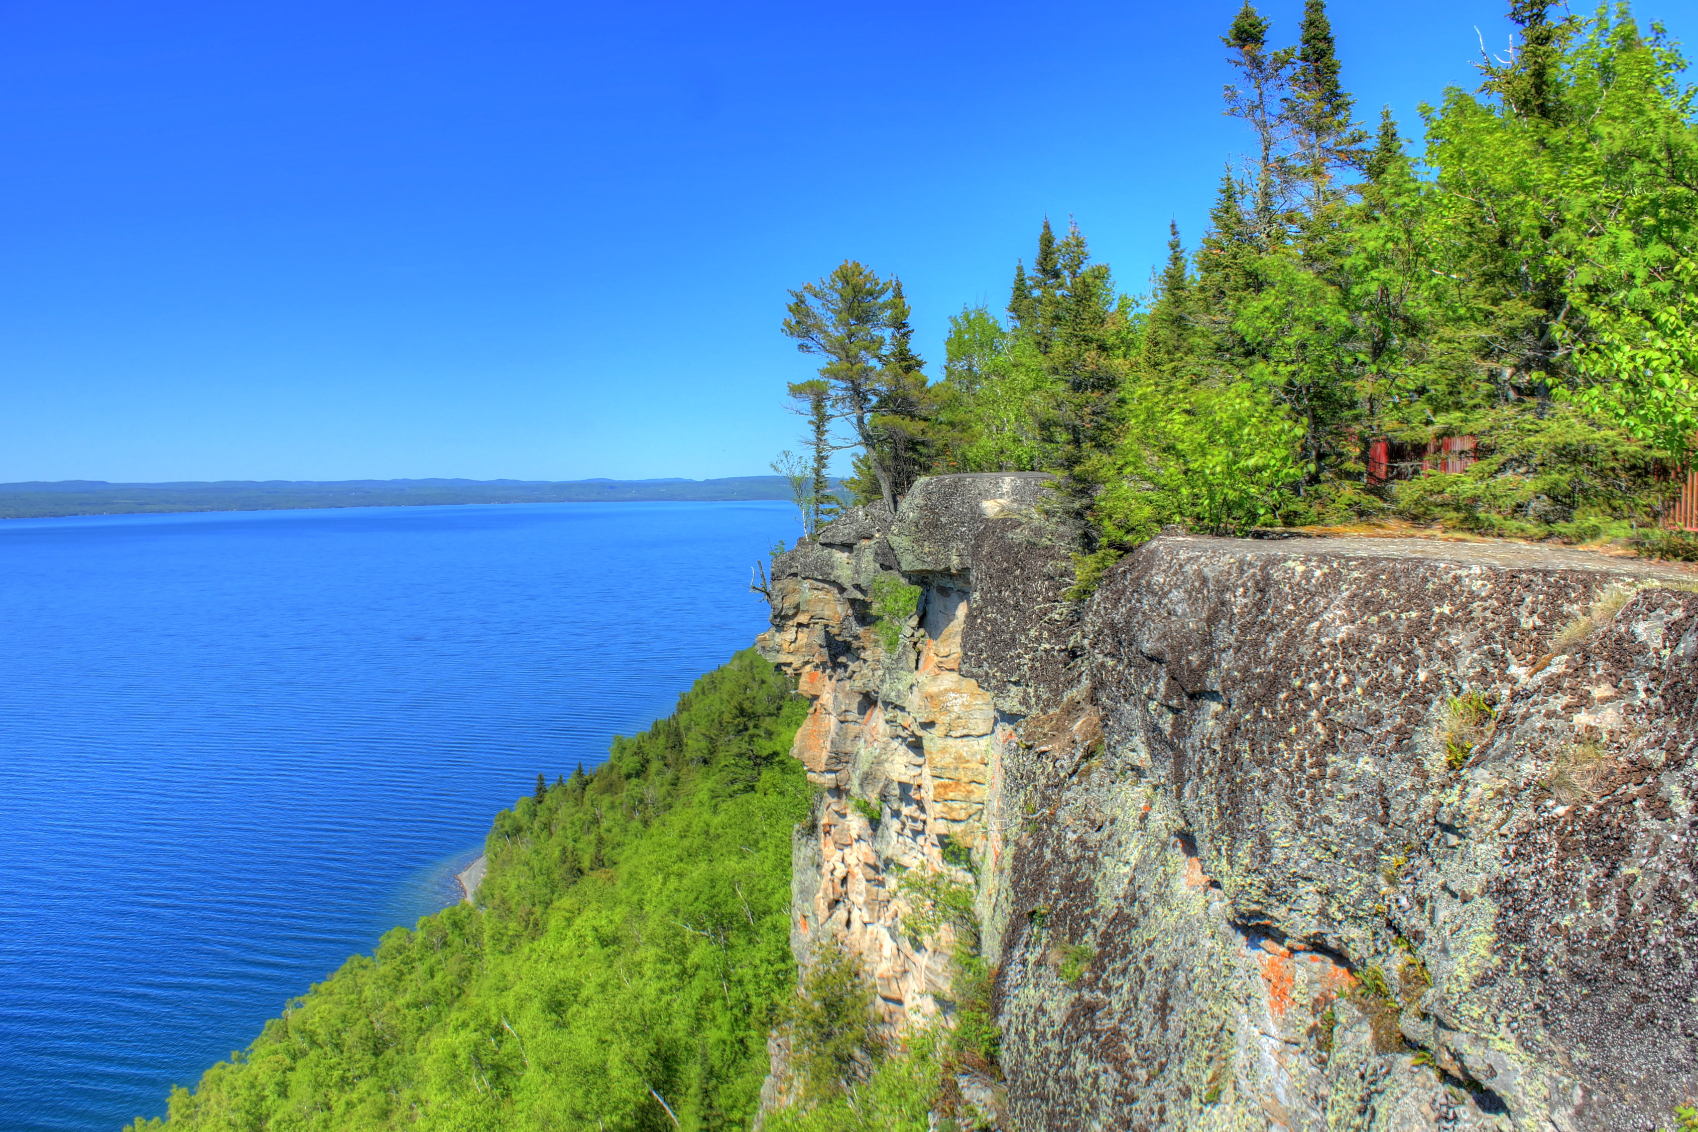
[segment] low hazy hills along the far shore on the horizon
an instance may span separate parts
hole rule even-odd
[[[217,484],[0,484],[0,519],[178,511],[409,507],[464,502],[637,502],[790,499],[781,475],[722,480],[221,480]]]

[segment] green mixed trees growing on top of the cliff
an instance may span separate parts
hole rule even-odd
[[[1698,129],[1684,59],[1627,5],[1513,0],[1515,48],[1409,124],[1363,122],[1323,0],[1275,46],[1223,29],[1228,163],[1206,231],[1121,290],[1048,219],[1005,311],[914,351],[898,278],[846,261],[791,292],[822,361],[793,475],[810,526],[854,446],[856,502],[937,472],[1046,470],[1080,582],[1180,524],[1438,524],[1667,557],[1698,402]],[[1375,115],[1367,115],[1375,117]],[[844,441],[847,441],[844,445]]]

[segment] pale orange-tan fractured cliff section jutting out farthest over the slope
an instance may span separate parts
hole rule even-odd
[[[895,876],[946,869],[949,838],[981,837],[993,752],[1012,742],[1007,728],[997,731],[990,692],[959,672],[971,569],[961,555],[992,516],[1036,504],[1044,482],[924,480],[895,521],[881,507],[857,507],[774,562],[773,630],[757,647],[813,701],[793,754],[824,787],[805,840],[810,855],[796,859],[815,876],[795,888],[791,944],[801,962],[832,937],[859,955],[891,1027],[936,1013],[949,969],[947,939],[927,950],[902,932],[907,903]],[[907,543],[897,528],[908,531]],[[895,570],[898,545],[924,563],[902,575],[924,591],[897,648],[886,648],[868,596],[878,574]],[[878,821],[856,801],[876,804]]]

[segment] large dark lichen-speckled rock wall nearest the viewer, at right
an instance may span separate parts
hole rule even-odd
[[[1676,1037],[1698,1017],[1693,854],[1657,825],[1691,782],[1671,752],[1698,737],[1650,674],[1661,636],[1627,628],[1640,606],[1684,625],[1698,599],[1635,597],[1579,679],[1572,657],[1540,669],[1555,630],[1613,580],[1681,572],[1438,550],[1161,538],[1094,597],[1077,699],[1026,728],[1061,740],[1024,755],[1041,820],[1004,871],[1022,1129],[1642,1129],[1698,1091]],[[1498,726],[1455,769],[1438,728],[1465,691]],[[1611,765],[1674,782],[1625,830],[1564,837],[1615,818],[1550,816],[1538,784],[1577,728],[1628,735],[1635,709]],[[1046,962],[1068,945],[1095,952],[1075,988]]]

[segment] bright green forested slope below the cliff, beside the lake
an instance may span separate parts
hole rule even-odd
[[[496,816],[477,908],[396,928],[134,1129],[747,1127],[795,988],[788,748],[752,652]]]

